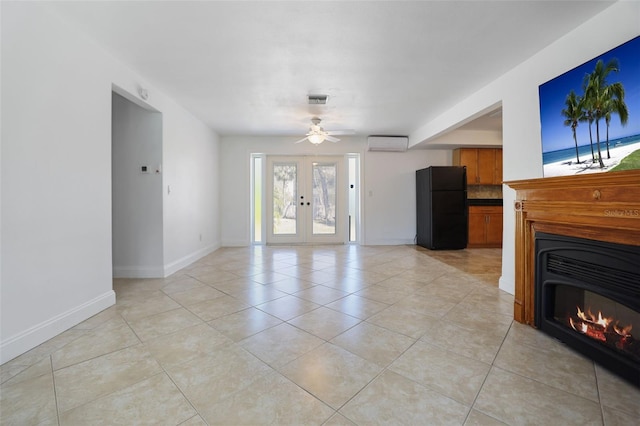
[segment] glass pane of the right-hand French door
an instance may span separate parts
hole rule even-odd
[[[313,163],[313,234],[336,233],[336,165]]]

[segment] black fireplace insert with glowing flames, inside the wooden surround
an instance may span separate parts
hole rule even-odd
[[[640,247],[535,236],[535,326],[640,385]]]

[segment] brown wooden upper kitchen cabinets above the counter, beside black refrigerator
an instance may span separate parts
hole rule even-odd
[[[467,185],[502,185],[501,148],[460,148],[453,165],[467,167]]]

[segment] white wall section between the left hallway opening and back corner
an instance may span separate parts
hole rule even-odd
[[[220,143],[179,105],[162,108],[164,272],[182,269],[221,246]]]

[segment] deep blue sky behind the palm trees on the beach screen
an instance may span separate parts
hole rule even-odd
[[[561,111],[565,108],[565,99],[573,89],[576,95],[582,96],[584,76],[591,73],[596,62],[602,59],[605,64],[616,58],[620,66],[619,72],[610,73],[607,83],[620,82],[625,89],[625,103],[629,110],[626,126],[620,125],[620,119],[614,115],[609,126],[609,140],[626,136],[640,135],[640,37],[586,62],[539,88],[540,121],[542,124],[542,151],[551,152],[575,146],[570,126],[564,125]],[[596,141],[595,123],[592,124],[593,140]],[[589,144],[589,125],[580,123],[576,129],[578,145]],[[600,122],[600,140],[606,138],[606,124]]]

